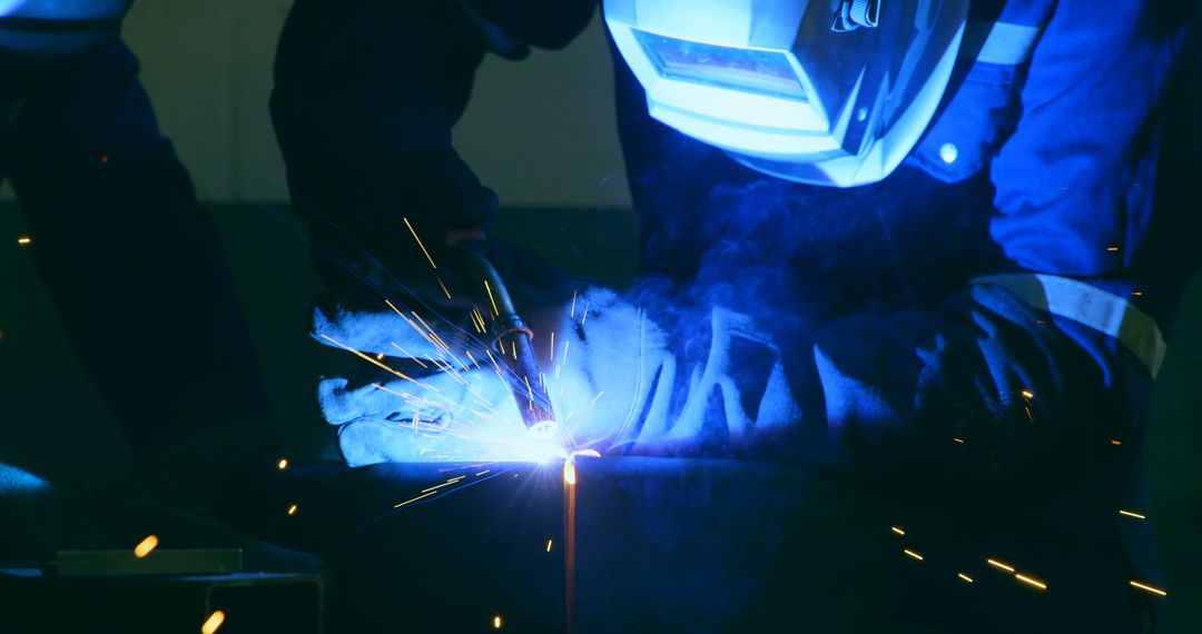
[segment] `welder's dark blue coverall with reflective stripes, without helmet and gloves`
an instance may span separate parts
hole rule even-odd
[[[464,4],[551,48],[594,8]],[[644,271],[677,305],[773,329],[804,412],[805,442],[783,459],[893,494],[928,563],[899,557],[902,626],[1154,618],[1130,586],[1156,582],[1147,526],[1118,510],[1142,502],[1159,331],[1198,262],[1197,209],[1158,178],[1183,175],[1158,171],[1189,22],[1170,5],[974,2],[935,121],[893,175],[853,190],[764,177],[659,124],[613,55]],[[353,237],[387,258],[400,215],[432,235],[488,225],[495,197],[451,145],[488,47],[456,2],[297,1],[272,107],[319,249],[353,257]],[[667,323],[684,340],[690,324]],[[990,575],[987,557],[1054,587]],[[980,574],[970,587],[958,572]]]

